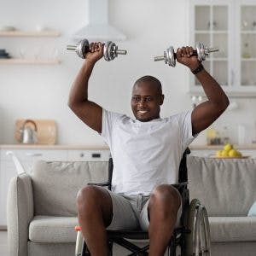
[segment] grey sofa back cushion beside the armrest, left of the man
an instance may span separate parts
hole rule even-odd
[[[108,180],[108,162],[46,162],[32,167],[34,215],[76,216],[79,189]]]

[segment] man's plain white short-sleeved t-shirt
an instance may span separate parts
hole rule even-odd
[[[149,195],[160,184],[177,183],[183,152],[194,139],[191,112],[141,122],[103,109],[101,135],[113,157],[113,192]]]

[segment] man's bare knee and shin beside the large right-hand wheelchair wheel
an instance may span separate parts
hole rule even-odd
[[[160,185],[154,189],[148,204],[149,255],[162,256],[166,252],[175,228],[180,204],[177,190],[171,185]]]

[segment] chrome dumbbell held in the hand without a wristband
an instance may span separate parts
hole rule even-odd
[[[67,49],[75,50],[80,58],[85,59],[86,54],[90,51],[90,44],[87,39],[79,41],[77,45],[67,45]],[[103,55],[106,61],[112,61],[118,55],[126,55],[125,49],[118,49],[117,45],[111,41],[104,44]]]

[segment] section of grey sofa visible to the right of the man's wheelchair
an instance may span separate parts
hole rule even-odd
[[[256,255],[256,159],[187,158],[190,199],[207,208],[212,255]]]

